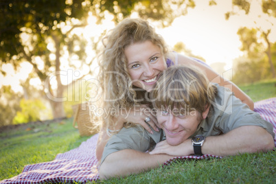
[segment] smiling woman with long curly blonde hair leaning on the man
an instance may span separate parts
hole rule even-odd
[[[171,65],[196,65],[206,72],[210,82],[216,82],[235,93],[235,96],[253,109],[253,101],[235,84],[198,60],[169,52],[163,38],[154,32],[147,21],[124,19],[109,32],[104,42],[100,65],[100,82],[104,84],[102,108],[108,113],[102,119],[96,156],[100,160],[108,138],[124,123],[139,124],[152,133],[159,130],[157,119],[149,111],[147,92],[157,82],[159,73]]]

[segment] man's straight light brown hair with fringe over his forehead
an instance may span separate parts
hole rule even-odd
[[[203,113],[214,102],[217,88],[196,67],[172,66],[161,73],[150,92],[154,108]],[[183,112],[185,111],[185,112]]]

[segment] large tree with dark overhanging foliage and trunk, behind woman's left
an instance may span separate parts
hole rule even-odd
[[[115,22],[132,12],[138,12],[143,19],[158,20],[165,26],[170,25],[176,16],[186,14],[187,8],[193,7],[193,0],[2,1],[0,16],[5,19],[0,21],[0,65],[9,62],[17,67],[20,62],[29,62],[33,67],[34,77],[38,77],[43,87],[47,88],[43,90],[54,96],[54,99],[61,99],[67,84],[62,84],[60,74],[56,74],[54,79],[57,85],[54,89],[48,77],[51,73],[60,71],[61,58],[66,53],[69,53],[67,60],[75,57],[87,67],[93,62],[85,62],[86,41],[82,35],[73,33],[76,28],[87,25],[90,12],[97,16],[98,23],[104,19],[106,12],[113,14]],[[54,43],[53,48],[49,46],[51,43]],[[97,43],[98,41],[94,43],[94,49],[97,48]],[[43,62],[42,65],[40,61]],[[49,102],[54,118],[65,117],[62,102],[53,99],[49,99]]]

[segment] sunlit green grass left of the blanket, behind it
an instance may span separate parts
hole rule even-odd
[[[59,124],[36,124],[0,134],[0,181],[20,174],[24,165],[52,161],[56,154],[77,148],[89,137],[80,137],[72,119]]]

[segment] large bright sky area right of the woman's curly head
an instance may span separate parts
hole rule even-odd
[[[225,62],[229,69],[232,60],[242,55],[239,49],[241,43],[236,34],[239,27],[255,27],[256,21],[267,29],[271,24],[264,21],[267,18],[264,14],[262,19],[258,18],[262,8],[257,1],[252,1],[249,16],[231,16],[228,21],[225,20],[225,12],[231,10],[231,0],[217,2],[217,5],[209,6],[208,1],[196,0],[194,9],[190,9],[186,16],[176,18],[171,27],[159,30],[159,33],[170,46],[182,41],[194,54],[203,56],[207,64]],[[271,36],[273,34],[271,42],[276,41],[275,26],[271,30]]]

